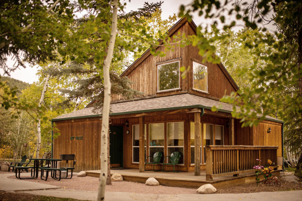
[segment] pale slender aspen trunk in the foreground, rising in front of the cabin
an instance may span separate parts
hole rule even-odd
[[[98,187],[98,201],[105,200],[105,186],[108,174],[108,132],[109,132],[109,112],[110,112],[110,98],[111,98],[111,83],[109,77],[109,67],[112,61],[113,50],[115,45],[116,28],[117,28],[117,6],[118,0],[113,1],[113,13],[112,13],[112,24],[111,24],[111,35],[109,40],[108,52],[103,65],[103,76],[104,76],[104,103],[102,111],[102,130],[101,130],[101,174],[100,184]]]

